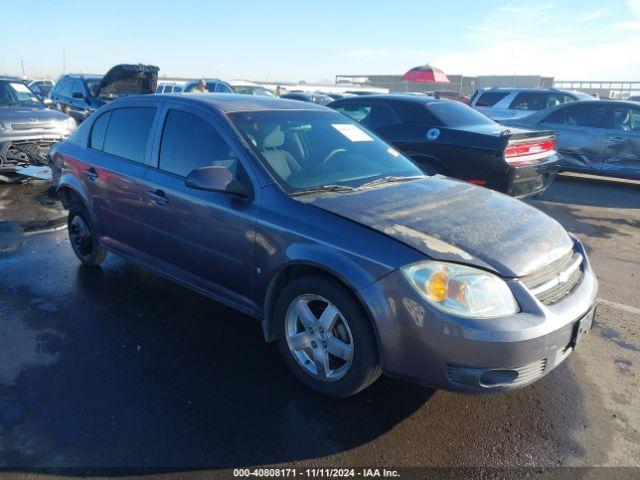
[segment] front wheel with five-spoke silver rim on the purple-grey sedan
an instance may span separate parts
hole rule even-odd
[[[280,294],[274,319],[285,363],[313,390],[348,397],[380,376],[371,323],[337,282],[317,275],[294,280]]]

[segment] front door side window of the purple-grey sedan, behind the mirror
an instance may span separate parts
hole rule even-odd
[[[236,173],[237,164],[229,144],[204,118],[169,110],[160,144],[161,170],[186,177],[196,168],[215,165]]]

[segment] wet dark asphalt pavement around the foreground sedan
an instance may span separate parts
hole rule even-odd
[[[255,320],[115,255],[79,266],[46,187],[0,186],[5,476],[640,467],[640,182],[562,176],[530,201],[600,282],[593,330],[549,375],[497,395],[382,378],[346,400],[300,385]]]

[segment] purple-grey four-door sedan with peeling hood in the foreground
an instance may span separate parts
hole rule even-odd
[[[54,147],[52,165],[83,264],[116,252],[256,317],[326,395],[353,395],[381,372],[521,387],[591,325],[597,281],[558,222],[422,175],[310,102],[124,98]]]

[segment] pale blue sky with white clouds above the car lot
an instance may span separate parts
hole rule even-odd
[[[0,74],[118,63],[161,76],[333,81],[402,74],[640,80],[640,0],[20,0],[2,5]],[[7,21],[15,19],[15,21]],[[63,55],[64,52],[64,55]]]

